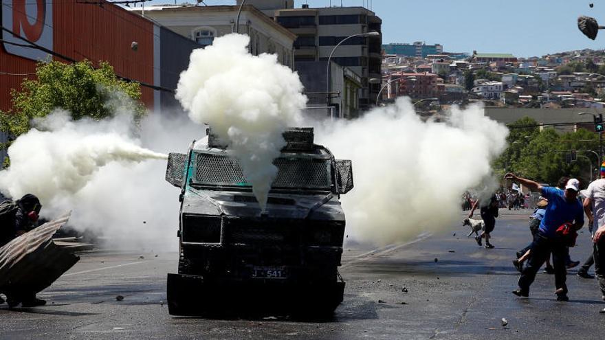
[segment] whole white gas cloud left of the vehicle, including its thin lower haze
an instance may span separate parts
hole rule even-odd
[[[167,156],[151,149],[184,150],[199,136],[188,122],[150,113],[134,128],[128,113],[72,122],[57,111],[10,146],[0,190],[36,194],[44,218],[73,210],[69,226],[104,236],[106,247],[173,250],[178,190],[164,181]]]

